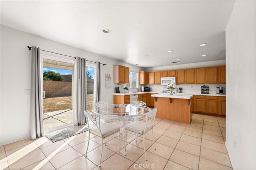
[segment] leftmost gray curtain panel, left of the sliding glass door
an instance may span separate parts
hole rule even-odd
[[[40,68],[40,49],[33,46],[30,87],[30,138],[32,140],[44,136]]]

